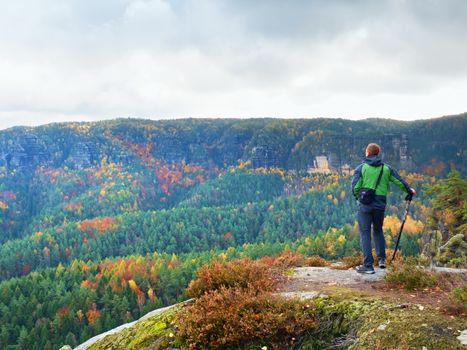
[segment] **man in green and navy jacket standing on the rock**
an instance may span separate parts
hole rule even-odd
[[[384,210],[386,209],[386,195],[389,183],[392,182],[407,192],[406,199],[415,196],[415,190],[410,188],[407,182],[381,161],[381,149],[376,143],[370,143],[366,147],[365,159],[356,169],[352,179],[352,193],[358,203],[358,227],[360,230],[360,243],[363,251],[363,265],[357,267],[359,273],[375,273],[373,268],[373,255],[371,252],[371,225],[373,225],[373,237],[375,239],[376,254],[379,267],[386,267],[386,242],[383,235]],[[368,191],[370,189],[370,191]],[[374,192],[370,198],[365,197],[364,192]],[[362,203],[362,202],[365,202]]]

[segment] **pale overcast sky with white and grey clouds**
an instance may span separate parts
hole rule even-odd
[[[0,129],[467,111],[465,0],[0,0]]]

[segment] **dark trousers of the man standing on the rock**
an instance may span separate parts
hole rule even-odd
[[[358,209],[358,227],[360,229],[360,244],[363,251],[363,265],[373,266],[371,253],[371,225],[373,225],[373,238],[378,259],[386,258],[386,241],[383,235],[384,210],[373,208]]]

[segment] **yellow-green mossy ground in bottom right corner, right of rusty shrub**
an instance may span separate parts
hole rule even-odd
[[[397,305],[378,298],[317,304],[320,322],[299,349],[341,345],[352,349],[464,349],[456,339],[465,320],[420,305]],[[340,348],[340,347],[339,347]]]

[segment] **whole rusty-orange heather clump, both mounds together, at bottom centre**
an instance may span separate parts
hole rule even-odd
[[[297,255],[279,257],[277,261],[289,261]],[[263,261],[249,259],[201,267],[187,289],[196,299],[177,316],[186,345],[238,347],[255,340],[293,345],[314,327],[314,308],[272,294],[277,284],[274,271]]]

